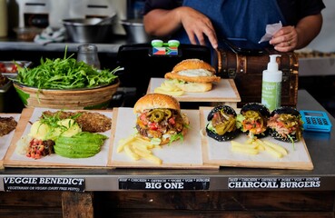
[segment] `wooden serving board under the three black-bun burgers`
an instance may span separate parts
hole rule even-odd
[[[295,149],[291,143],[284,143],[273,139],[271,136],[261,138],[275,144],[280,144],[289,152],[281,158],[271,156],[271,154],[260,151],[259,154],[241,154],[232,152],[231,142],[218,142],[207,136],[205,126],[208,124],[207,115],[212,108],[200,108],[200,125],[202,129],[202,151],[203,163],[217,164],[220,166],[249,167],[249,168],[273,168],[273,169],[297,169],[312,170],[313,163],[310,154],[302,138],[300,142],[295,143]],[[244,143],[248,139],[247,135],[240,134],[234,140]]]

